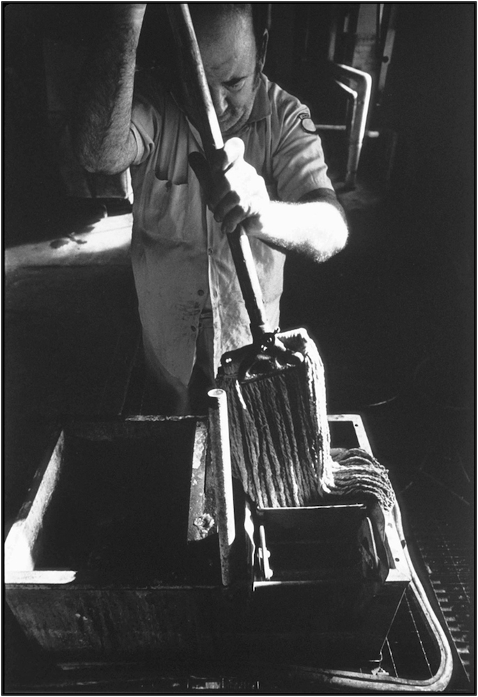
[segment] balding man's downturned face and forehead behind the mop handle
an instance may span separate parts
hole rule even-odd
[[[252,112],[258,84],[252,20],[221,18],[199,26],[197,38],[222,135],[236,135]]]

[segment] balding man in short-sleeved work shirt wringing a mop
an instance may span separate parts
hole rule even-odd
[[[268,32],[253,4],[190,5],[225,141],[213,172],[181,80],[134,80],[145,4],[113,6],[85,66],[76,150],[88,171],[130,167],[132,265],[162,413],[203,411],[221,356],[251,342],[226,233],[245,228],[273,327],[286,252],[325,261],[346,244],[309,110],[262,73]]]

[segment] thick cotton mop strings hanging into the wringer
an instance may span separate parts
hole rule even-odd
[[[332,459],[323,363],[307,331],[277,338],[304,360],[247,379],[217,376],[228,399],[233,475],[261,508],[316,505],[337,495],[373,497],[390,510],[394,491],[376,459],[360,448]]]

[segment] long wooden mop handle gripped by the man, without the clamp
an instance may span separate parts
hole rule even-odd
[[[190,10],[187,3],[167,3],[167,10],[180,51],[180,59],[183,62],[183,72],[187,75],[187,84],[185,84],[187,98],[194,109],[194,118],[201,133],[206,159],[208,159],[211,153],[224,148],[224,141],[210,96]],[[228,240],[251,323],[252,337],[254,340],[261,339],[265,333],[271,331],[271,328],[265,316],[261,285],[249,238],[242,226],[238,225],[236,230],[229,233]]]

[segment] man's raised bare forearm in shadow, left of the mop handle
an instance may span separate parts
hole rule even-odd
[[[114,3],[111,24],[86,59],[72,119],[75,152],[91,172],[116,174],[136,155],[130,131],[144,3]]]

